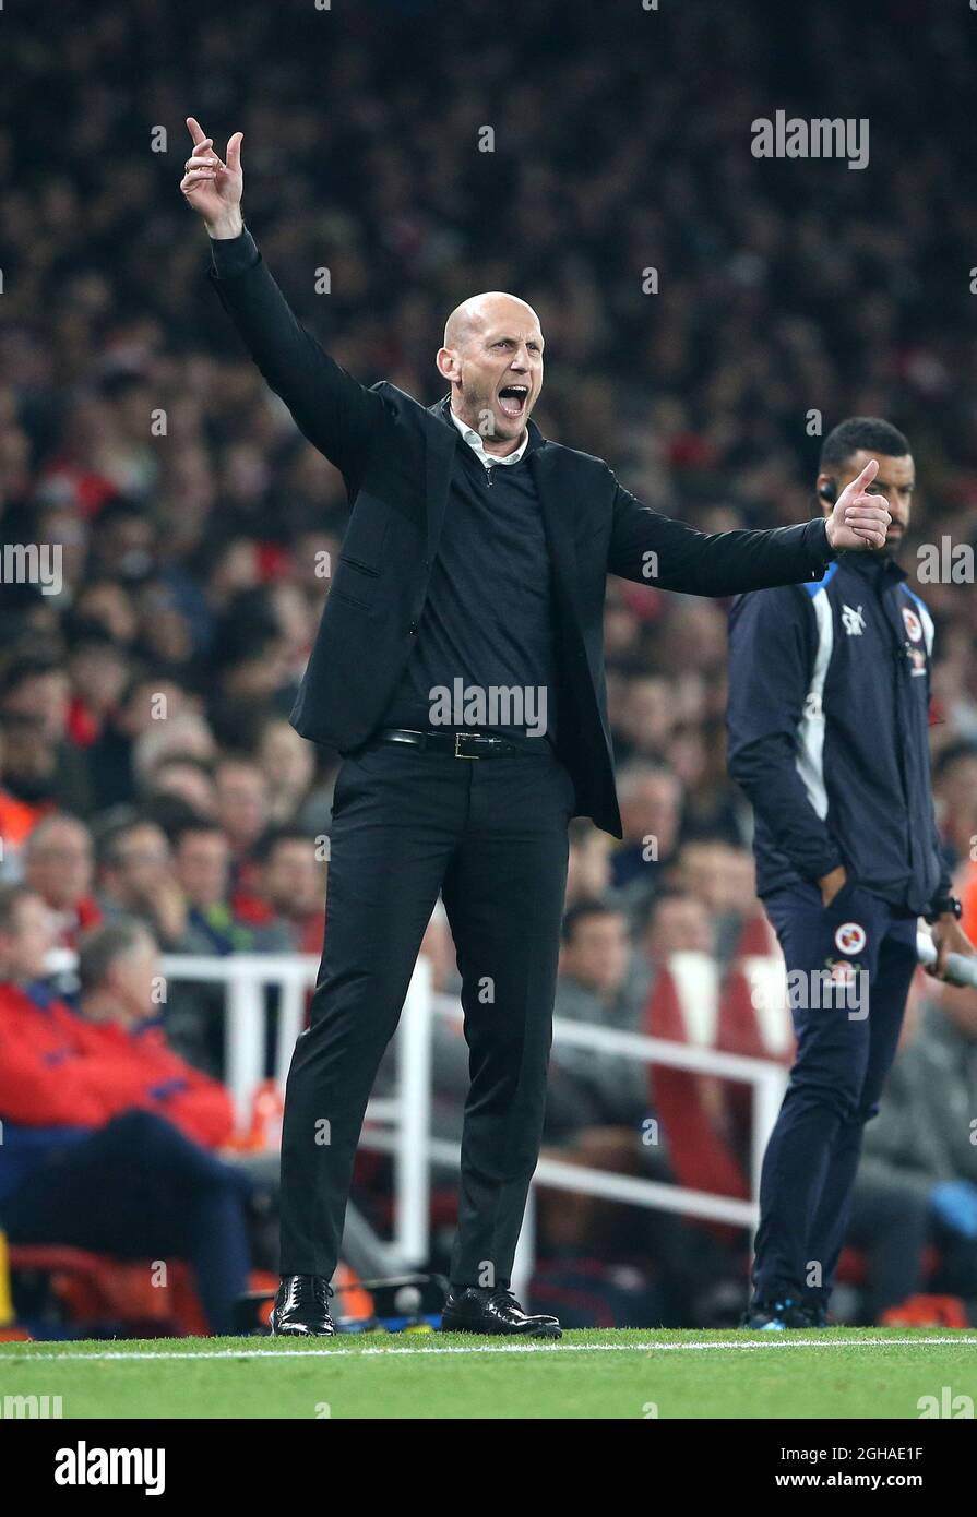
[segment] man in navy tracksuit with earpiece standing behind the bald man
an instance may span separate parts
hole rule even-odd
[[[933,622],[895,557],[915,482],[909,443],[854,417],[824,441],[818,495],[869,458],[892,523],[813,584],[757,590],[730,619],[730,772],[756,813],[757,890],[787,965],[796,1062],[760,1180],[754,1299],[743,1326],[827,1320],[862,1130],[895,1056],[933,922],[942,972],[972,953],[933,816]]]

